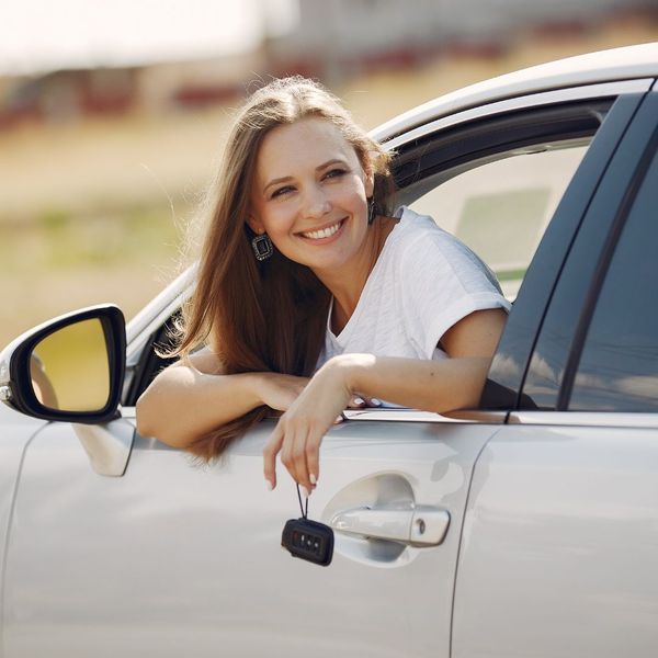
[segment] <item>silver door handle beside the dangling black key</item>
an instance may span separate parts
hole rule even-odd
[[[450,514],[445,510],[422,506],[408,510],[353,508],[333,514],[329,525],[336,532],[372,540],[438,546],[447,532]]]

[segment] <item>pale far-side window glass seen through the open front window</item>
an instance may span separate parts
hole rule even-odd
[[[517,297],[544,230],[590,138],[544,143],[497,155],[418,198],[494,271],[506,297]]]

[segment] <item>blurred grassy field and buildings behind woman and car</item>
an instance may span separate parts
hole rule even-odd
[[[359,25],[350,12],[363,2],[291,0],[287,23],[268,27],[272,7],[283,2],[256,2],[253,16],[264,16],[264,27],[248,48],[230,53],[213,50],[211,38],[203,52],[59,60],[55,43],[31,68],[26,56],[12,59],[0,46],[0,345],[101,302],[118,304],[129,318],[180,272],[194,256],[186,236],[203,225],[202,201],[232,112],[258,81],[311,75],[374,127],[499,73],[658,39],[658,15],[647,2],[599,3],[605,11],[586,2],[574,15],[558,2],[554,13],[534,15],[530,9],[544,5],[529,0],[513,30],[503,22],[478,32],[469,23],[462,33],[456,22],[446,31],[443,20],[456,4],[398,2],[407,13],[434,12],[436,30],[412,48],[408,35],[396,36],[399,21],[386,19],[393,5],[374,0],[366,3],[371,15],[384,14],[377,38],[368,50],[351,52],[354,39],[341,30]],[[465,4],[472,11],[477,2]],[[322,5],[333,8],[332,36],[310,53],[309,26],[321,22]]]

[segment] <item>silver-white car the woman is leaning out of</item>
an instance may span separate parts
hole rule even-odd
[[[198,467],[135,432],[188,273],[0,355],[2,656],[658,655],[658,44],[442,97],[374,136],[514,300],[480,405],[348,411],[281,548],[265,420]]]

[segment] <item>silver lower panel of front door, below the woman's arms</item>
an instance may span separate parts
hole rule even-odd
[[[69,426],[42,432],[11,529],[7,658],[215,656],[219,647],[230,656],[447,656],[470,472],[498,426],[364,419],[332,429],[311,518],[377,503],[385,476],[451,522],[443,543],[422,548],[337,533],[328,568],[280,547],[299,510],[281,467],[279,487],[264,487],[272,427],[212,467],[137,438],[120,478],[92,470]]]

